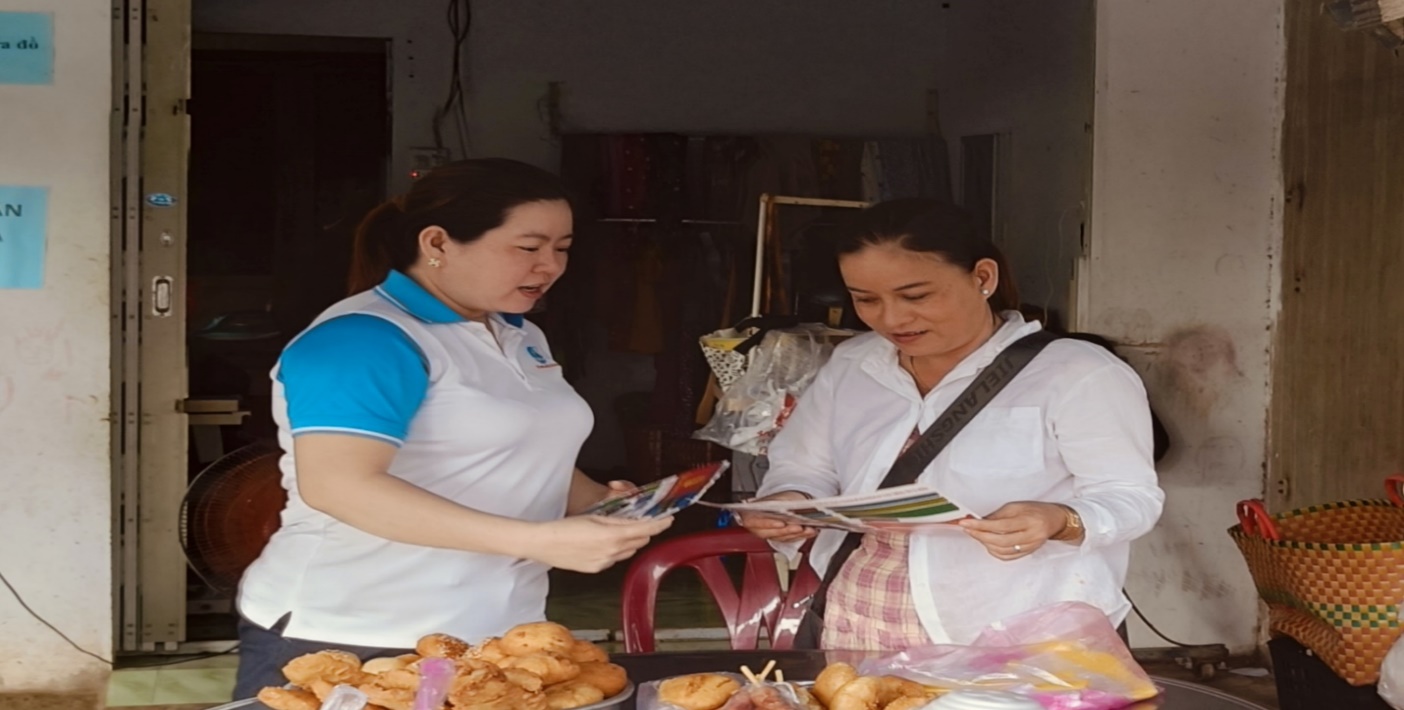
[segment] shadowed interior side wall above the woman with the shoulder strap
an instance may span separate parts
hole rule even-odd
[[[951,3],[934,49],[941,128],[959,166],[962,136],[1000,133],[1007,203],[995,241],[1025,303],[1068,319],[1087,216],[1092,136],[1092,0]]]

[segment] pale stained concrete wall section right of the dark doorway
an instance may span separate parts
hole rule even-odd
[[[1174,449],[1129,591],[1186,643],[1257,640],[1224,530],[1264,494],[1282,236],[1280,0],[1102,1],[1082,327],[1130,341]],[[1140,629],[1133,641],[1164,645]]]

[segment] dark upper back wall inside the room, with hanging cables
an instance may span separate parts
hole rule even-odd
[[[430,116],[448,91],[444,4],[195,0],[194,24],[392,38],[403,189],[409,149],[432,145]],[[470,153],[555,167],[550,81],[564,84],[571,130],[917,133],[941,13],[915,0],[479,0],[465,60]]]

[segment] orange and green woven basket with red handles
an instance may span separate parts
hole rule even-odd
[[[1404,626],[1404,476],[1389,501],[1345,501],[1268,515],[1238,504],[1228,535],[1268,603],[1271,630],[1316,652],[1351,685],[1380,678]]]

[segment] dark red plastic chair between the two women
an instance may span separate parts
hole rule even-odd
[[[809,549],[806,546],[804,551]],[[746,556],[741,588],[737,589],[723,556]],[[782,591],[775,550],[743,528],[684,535],[658,543],[635,557],[623,580],[623,650],[651,652],[656,645],[653,615],[658,602],[658,584],[668,572],[691,567],[702,577],[726,619],[733,650],[757,648],[761,627],[768,631],[771,648],[790,648],[795,633],[809,608],[809,596],[819,588],[819,575],[800,564],[788,591]]]

